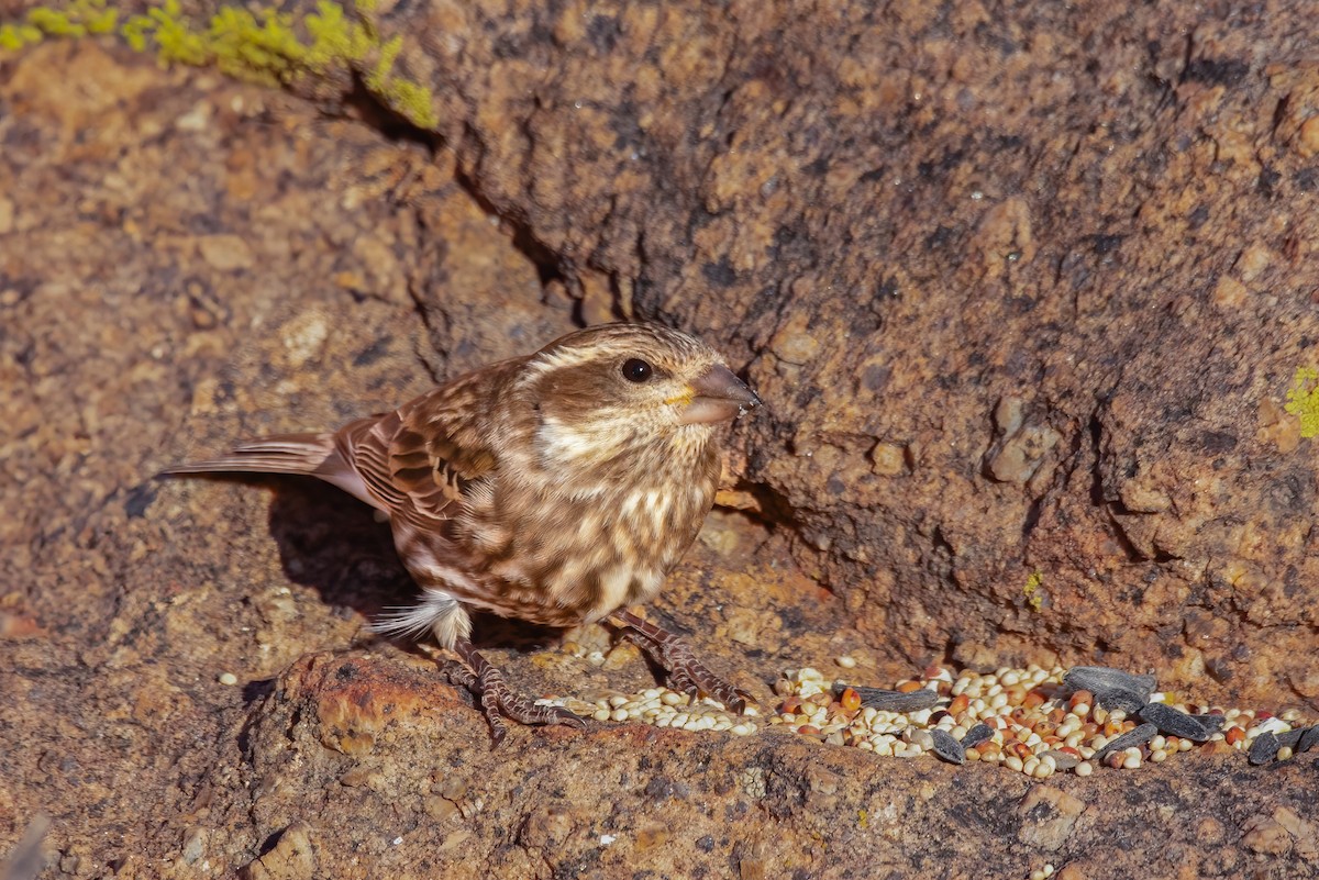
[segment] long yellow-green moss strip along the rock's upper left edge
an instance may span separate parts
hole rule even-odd
[[[376,7],[376,0],[353,3],[360,12]],[[368,21],[351,20],[332,0],[321,0],[301,21],[277,9],[224,7],[204,26],[185,16],[178,0],[164,0],[123,24],[106,4],[74,0],[63,9],[30,9],[22,24],[0,25],[0,50],[16,51],[46,37],[117,33],[135,51],[154,51],[162,65],[215,66],[270,86],[319,76],[336,66],[359,67],[375,58],[365,71],[367,87],[413,124],[439,124],[431,91],[393,74],[402,37],[381,42]]]

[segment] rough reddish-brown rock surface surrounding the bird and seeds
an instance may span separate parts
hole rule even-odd
[[[1310,18],[381,3],[435,132],[108,40],[0,55],[0,855],[42,813],[50,877],[1319,875],[1312,755],[1033,784],[769,732],[491,754],[443,663],[365,632],[409,591],[369,511],[152,478],[660,319],[769,406],[652,613],[766,705],[847,652],[1314,711]],[[539,693],[653,681],[567,638],[605,663],[483,627]]]

